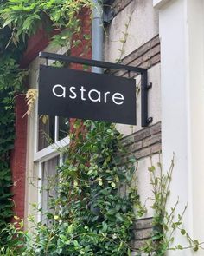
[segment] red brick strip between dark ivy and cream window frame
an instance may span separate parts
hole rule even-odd
[[[23,95],[16,96],[16,139],[11,153],[12,192],[15,214],[23,219],[25,201],[26,144],[27,144],[27,107]]]

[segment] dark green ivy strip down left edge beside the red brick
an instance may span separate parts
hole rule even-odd
[[[14,96],[21,88],[24,77],[17,67],[10,58],[3,58],[0,62],[0,229],[13,215],[9,161],[15,137]]]

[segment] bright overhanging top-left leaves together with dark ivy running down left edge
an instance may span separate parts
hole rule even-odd
[[[91,0],[0,1],[0,229],[12,217],[14,208],[10,150],[15,140],[15,98],[22,93],[28,74],[19,68],[22,53],[29,37],[39,29],[47,32],[50,42],[70,48],[73,36],[80,33],[80,10],[91,7]]]

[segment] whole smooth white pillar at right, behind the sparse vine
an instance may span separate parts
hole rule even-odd
[[[175,152],[169,207],[178,196],[177,213],[182,213],[188,204],[184,227],[194,239],[204,241],[203,1],[166,1],[160,9],[159,23],[164,167],[169,166]],[[180,233],[175,234],[175,244],[188,245]],[[168,253],[170,256],[203,254],[190,250]]]

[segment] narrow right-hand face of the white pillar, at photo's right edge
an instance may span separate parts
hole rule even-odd
[[[204,1],[187,1],[188,159],[192,234],[204,241]],[[204,255],[204,251],[196,255]]]

